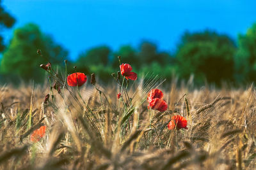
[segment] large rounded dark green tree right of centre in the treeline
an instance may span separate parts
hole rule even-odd
[[[195,74],[195,79],[201,83],[205,78],[217,85],[221,81],[232,81],[235,51],[234,41],[225,34],[186,32],[176,53],[177,73],[186,79]]]

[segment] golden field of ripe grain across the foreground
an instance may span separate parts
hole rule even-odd
[[[121,89],[113,81],[95,88],[88,77],[79,89],[59,81],[59,92],[48,83],[0,87],[0,168],[256,168],[253,85],[196,89],[154,77]],[[164,112],[147,107],[155,88],[168,104]],[[169,130],[173,115],[185,117],[188,129]],[[45,135],[31,141],[42,125]]]

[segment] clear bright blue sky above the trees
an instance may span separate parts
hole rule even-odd
[[[212,29],[236,39],[256,22],[255,0],[2,0],[17,19],[4,31],[6,42],[15,28],[40,25],[76,59],[93,46],[137,47],[142,39],[173,52],[184,31]]]

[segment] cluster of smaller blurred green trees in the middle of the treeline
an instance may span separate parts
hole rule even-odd
[[[168,71],[173,71],[173,62],[170,55],[164,52],[157,52],[156,45],[147,41],[141,43],[139,52],[130,45],[124,45],[113,53],[112,60],[110,60],[110,55],[111,50],[107,46],[99,46],[92,48],[88,52],[81,53],[77,62],[75,62],[77,71],[86,74],[95,73],[101,81],[107,82],[109,78],[111,80],[111,73],[116,73],[116,71],[120,70],[118,56],[121,56],[122,63],[131,64],[133,71],[140,75],[152,73],[152,67],[148,67],[151,64],[159,67],[160,70],[156,71],[159,74],[164,72],[164,75],[168,75],[170,74]],[[154,67],[154,70],[156,70],[156,67]]]

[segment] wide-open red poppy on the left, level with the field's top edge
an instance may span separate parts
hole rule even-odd
[[[86,82],[86,80],[87,77],[84,73],[73,73],[67,78],[68,85],[72,87],[76,87],[77,85],[80,87]]]

